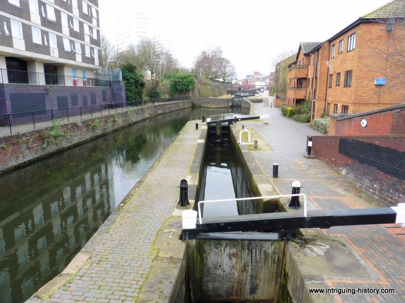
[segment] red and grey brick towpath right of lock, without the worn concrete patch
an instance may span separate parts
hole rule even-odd
[[[307,124],[295,122],[281,115],[279,108],[270,108],[268,99],[254,104],[253,114],[269,114],[254,130],[272,150],[253,151],[252,154],[275,191],[291,193],[294,180],[301,182],[301,193],[307,194],[308,210],[332,210],[380,207],[338,172],[317,159],[303,157],[307,135],[321,135]],[[249,129],[249,123],[244,123]],[[252,123],[252,127],[255,127]],[[272,178],[272,164],[278,163],[278,178]],[[382,206],[385,207],[385,206]],[[405,228],[397,224],[332,227],[318,230],[320,237],[342,241],[355,256],[362,269],[350,270],[349,262],[329,264],[339,269],[340,276],[325,271],[311,272],[322,277],[325,287],[343,292],[359,289],[373,291],[393,289],[395,293],[332,294],[327,301],[335,302],[405,302]],[[291,244],[289,244],[291,245]],[[315,247],[315,245],[313,246]],[[312,247],[312,248],[313,248]],[[311,247],[308,247],[310,249]],[[300,252],[300,249],[298,249]],[[301,249],[302,254],[307,251]],[[329,252],[329,251],[328,251]],[[328,255],[325,254],[325,258]],[[297,258],[299,259],[299,258]],[[299,261],[298,261],[299,263]],[[300,265],[298,265],[300,266]],[[360,267],[360,268],[361,268]],[[302,265],[302,274],[306,272]],[[297,290],[300,292],[302,290]],[[313,299],[317,296],[313,295]],[[320,296],[318,295],[320,299]],[[322,301],[325,298],[322,298]]]

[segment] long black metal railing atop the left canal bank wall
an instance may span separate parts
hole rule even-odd
[[[123,103],[97,104],[65,109],[43,110],[0,115],[0,135],[51,126],[54,120],[60,123],[85,120],[93,117],[126,112],[134,108],[185,101],[189,96],[133,100]]]

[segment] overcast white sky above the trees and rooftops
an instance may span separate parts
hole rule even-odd
[[[149,22],[171,29],[174,57],[191,68],[201,51],[221,46],[238,79],[273,71],[272,61],[300,42],[321,42],[389,0],[99,0],[101,33],[115,44],[120,12],[149,14]],[[153,21],[152,18],[156,18]]]

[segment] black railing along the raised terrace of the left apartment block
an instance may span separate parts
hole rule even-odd
[[[72,77],[57,74],[41,74],[35,72],[7,69],[0,69],[0,83],[111,87],[111,81],[98,78]]]

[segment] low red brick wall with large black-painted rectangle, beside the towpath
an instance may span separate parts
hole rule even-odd
[[[312,136],[311,155],[386,206],[405,200],[405,135]]]

